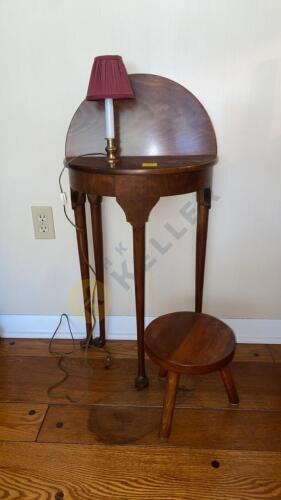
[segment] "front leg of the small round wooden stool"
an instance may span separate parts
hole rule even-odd
[[[175,372],[168,373],[168,382],[164,397],[162,422],[159,432],[161,438],[168,438],[170,436],[173,414],[176,403],[177,386],[179,381],[179,374]]]

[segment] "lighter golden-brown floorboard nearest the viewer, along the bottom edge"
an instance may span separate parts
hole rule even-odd
[[[281,455],[185,448],[3,443],[2,498],[263,500],[281,495]],[[62,495],[57,496],[62,498]]]

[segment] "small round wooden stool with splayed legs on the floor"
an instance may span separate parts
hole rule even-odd
[[[235,352],[235,337],[231,328],[222,321],[194,312],[165,314],[146,328],[144,341],[148,356],[160,366],[160,376],[168,372],[160,437],[168,438],[171,432],[181,373],[220,370],[230,403],[239,403],[227,366]]]

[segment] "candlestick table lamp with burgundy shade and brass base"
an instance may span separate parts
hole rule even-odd
[[[107,161],[114,166],[117,151],[114,132],[113,99],[132,99],[134,93],[121,56],[98,56],[94,59],[87,101],[104,100]]]

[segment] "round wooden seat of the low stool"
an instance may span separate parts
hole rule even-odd
[[[174,312],[152,321],[145,330],[148,356],[176,373],[208,373],[227,365],[235,352],[234,334],[208,314]]]

